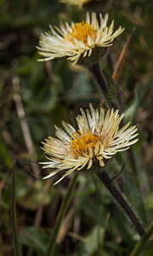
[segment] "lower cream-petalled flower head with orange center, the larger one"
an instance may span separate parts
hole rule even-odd
[[[94,109],[90,104],[90,111],[87,109],[85,113],[82,108],[80,111],[81,114],[76,118],[78,130],[62,122],[65,131],[55,126],[57,138],[48,137],[43,143],[42,149],[48,154],[48,162],[42,163],[43,168],[54,169],[44,178],[65,171],[60,181],[75,170],[90,169],[94,163],[105,166],[105,161],[113,154],[127,150],[138,141],[133,140],[138,136],[138,133],[134,134],[136,126],[127,129],[127,123],[119,130],[124,115],[119,115],[119,110],[111,109],[105,114],[103,108]]]

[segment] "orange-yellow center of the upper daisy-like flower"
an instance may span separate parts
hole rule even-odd
[[[76,38],[78,41],[88,44],[88,36],[95,40],[96,31],[94,24],[90,25],[87,21],[84,22],[84,20],[71,26],[71,32],[68,34],[68,38],[72,43],[74,43],[74,38]]]

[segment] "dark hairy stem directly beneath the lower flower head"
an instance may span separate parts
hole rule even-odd
[[[128,205],[126,199],[122,196],[120,191],[116,189],[116,186],[111,183],[111,178],[109,177],[107,172],[98,172],[97,173],[100,180],[105,184],[105,187],[110,191],[111,195],[114,197],[116,202],[122,207],[123,212],[126,213],[127,217],[131,219],[135,230],[138,231],[139,236],[143,236],[144,234],[144,227],[139,222],[139,218],[137,217],[136,213],[133,212],[131,207]]]

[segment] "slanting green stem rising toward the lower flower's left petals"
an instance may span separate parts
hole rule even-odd
[[[47,250],[46,256],[54,256],[54,248],[55,248],[55,244],[56,244],[56,238],[59,234],[60,224],[62,222],[62,219],[65,216],[67,207],[70,204],[72,192],[73,192],[73,189],[74,189],[76,183],[77,183],[77,173],[73,177],[71,184],[69,186],[69,189],[67,190],[67,194],[65,195],[65,199],[63,200],[61,207],[59,209],[59,214],[57,216],[56,223],[54,225],[54,232],[53,232],[53,234],[50,238],[50,241],[48,243],[48,250]]]

